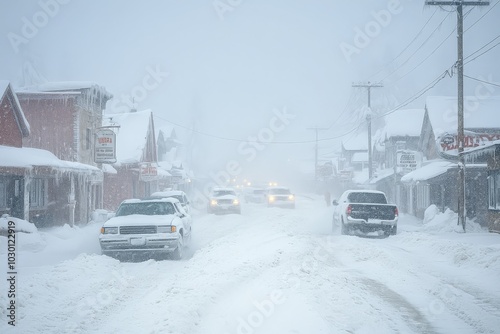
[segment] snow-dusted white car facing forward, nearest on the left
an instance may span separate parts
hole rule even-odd
[[[190,240],[191,216],[175,198],[125,200],[99,235],[104,255],[171,254],[178,260]]]

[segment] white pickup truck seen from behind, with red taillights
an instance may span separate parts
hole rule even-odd
[[[332,204],[332,229],[340,224],[342,234],[382,231],[389,236],[397,233],[398,208],[388,204],[381,191],[347,190]]]

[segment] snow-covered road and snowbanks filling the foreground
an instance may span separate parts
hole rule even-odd
[[[178,262],[102,256],[98,224],[19,233],[17,325],[2,285],[0,332],[498,333],[499,235],[457,233],[447,212],[341,236],[331,211],[302,196],[296,210],[197,215]]]

